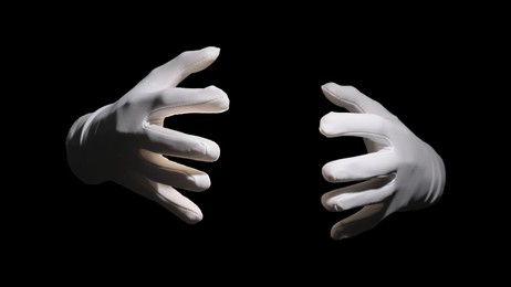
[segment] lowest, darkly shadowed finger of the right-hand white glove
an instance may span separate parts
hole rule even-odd
[[[344,240],[372,230],[385,217],[387,208],[387,202],[364,206],[353,215],[335,223],[330,235],[334,240]]]

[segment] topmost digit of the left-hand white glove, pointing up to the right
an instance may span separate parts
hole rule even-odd
[[[190,74],[207,68],[219,54],[220,49],[215,46],[182,52],[154,68],[137,86],[147,87],[149,91],[175,87]]]

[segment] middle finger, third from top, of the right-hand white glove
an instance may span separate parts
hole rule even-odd
[[[386,149],[358,157],[331,161],[323,166],[323,178],[328,182],[364,180],[395,172],[396,156]]]

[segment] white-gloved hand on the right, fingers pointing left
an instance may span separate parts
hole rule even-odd
[[[393,212],[423,209],[440,200],[445,166],[428,144],[356,88],[328,83],[322,89],[326,98],[351,113],[326,114],[320,131],[326,137],[363,137],[368,151],[323,167],[328,182],[361,181],[323,194],[321,201],[328,211],[362,208],[333,225],[332,238],[355,236]]]

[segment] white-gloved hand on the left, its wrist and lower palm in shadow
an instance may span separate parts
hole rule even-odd
[[[229,98],[221,89],[176,87],[191,73],[208,67],[218,47],[187,51],[154,68],[126,95],[79,118],[66,138],[67,161],[85,183],[113,181],[161,204],[189,224],[202,220],[200,209],[176,189],[210,187],[202,171],[165,156],[216,161],[218,145],[209,139],[164,128],[164,119],[187,113],[221,113]]]

